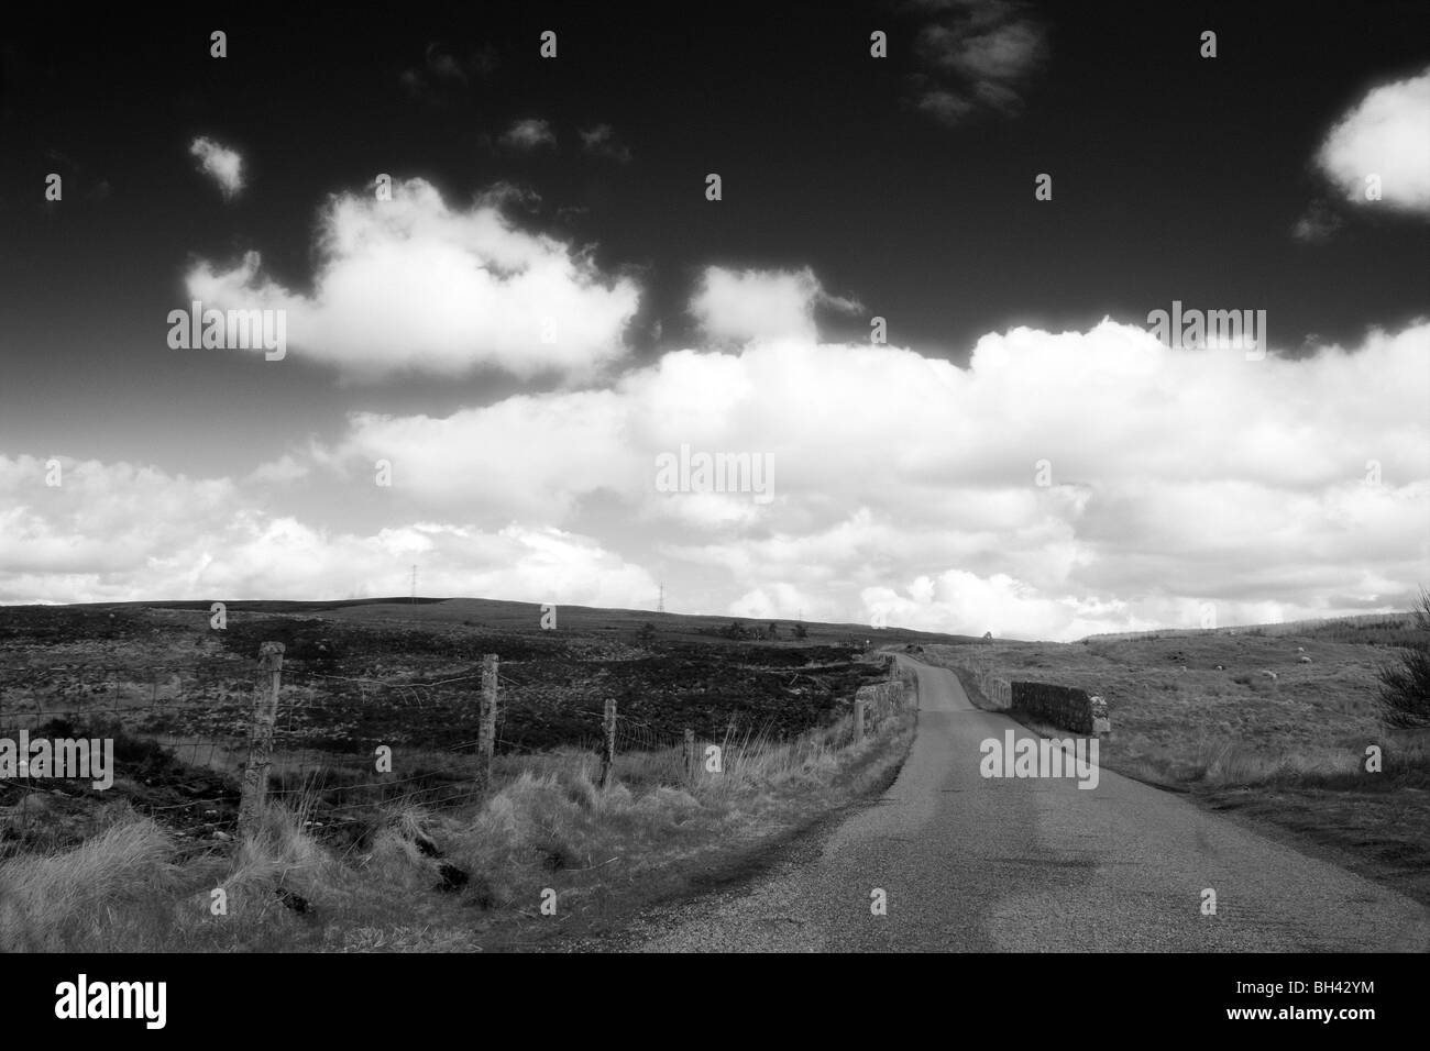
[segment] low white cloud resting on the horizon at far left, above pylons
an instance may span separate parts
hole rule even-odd
[[[548,525],[410,520],[369,533],[266,510],[262,479],[189,479],[124,462],[0,455],[0,602],[342,599],[402,593],[642,605],[656,582],[598,541]]]

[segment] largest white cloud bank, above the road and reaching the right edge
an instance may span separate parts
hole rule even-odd
[[[392,458],[443,518],[572,528],[605,500],[622,542],[728,581],[702,608],[758,616],[867,622],[897,596],[891,623],[1072,638],[1191,626],[1204,602],[1357,612],[1430,568],[1427,323],[1260,362],[1111,320],[1020,327],[965,369],[784,332],[605,390],[353,416],[330,459]],[[659,492],[682,445],[771,456],[774,499]]]

